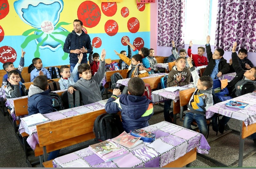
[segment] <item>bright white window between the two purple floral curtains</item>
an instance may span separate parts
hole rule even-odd
[[[218,0],[186,0],[184,40],[189,44],[205,45],[206,36],[215,43]]]

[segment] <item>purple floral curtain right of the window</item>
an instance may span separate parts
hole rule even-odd
[[[230,51],[233,42],[238,48],[256,52],[256,1],[219,0],[215,48]]]

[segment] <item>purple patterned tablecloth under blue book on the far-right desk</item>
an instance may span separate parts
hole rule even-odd
[[[226,103],[230,100],[227,100],[209,107],[209,109],[206,111],[206,118],[211,118],[214,113],[219,113],[227,117],[244,121],[246,127],[247,125],[256,123],[256,94],[248,93],[231,100],[244,101],[246,103],[250,103],[250,106],[247,109],[229,107],[226,106]]]

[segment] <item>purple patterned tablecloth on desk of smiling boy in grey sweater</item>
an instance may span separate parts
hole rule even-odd
[[[96,103],[92,103],[89,105],[84,105],[84,106],[74,107],[71,109],[65,109],[65,110],[60,110],[57,112],[43,114],[43,116],[49,119],[49,121],[47,121],[47,122],[60,120],[63,118],[68,118],[68,117],[72,117],[72,116],[77,116],[77,115],[93,112],[96,110],[105,109],[106,102],[107,102],[107,99],[96,102]],[[39,144],[37,129],[36,129],[36,126],[31,126],[29,128],[33,133],[30,134],[30,136],[28,136],[27,143],[34,150],[36,148],[36,145]],[[25,132],[23,121],[21,121],[18,131],[20,133]]]

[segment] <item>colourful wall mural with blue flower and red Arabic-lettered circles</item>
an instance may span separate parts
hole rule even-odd
[[[69,64],[63,45],[74,19],[83,22],[82,30],[90,36],[93,52],[104,48],[106,58],[119,59],[113,51],[127,51],[123,36],[139,50],[150,48],[149,4],[131,0],[1,0],[0,69],[6,62],[18,67],[22,48],[25,66],[35,57],[42,59],[44,67]]]

